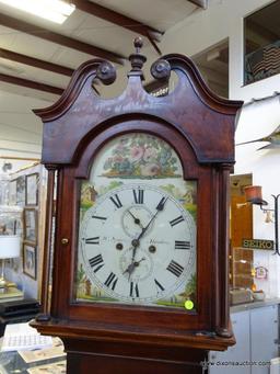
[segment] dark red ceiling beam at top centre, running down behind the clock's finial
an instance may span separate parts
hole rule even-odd
[[[88,0],[72,0],[71,2],[83,12],[148,37],[154,49],[161,55],[161,50],[155,44],[155,41],[160,42],[158,35],[164,34],[162,31],[148,26],[139,21],[130,19],[129,16]]]

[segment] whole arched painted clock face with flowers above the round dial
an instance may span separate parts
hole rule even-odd
[[[81,184],[75,298],[196,306],[196,195],[159,137],[106,144]]]

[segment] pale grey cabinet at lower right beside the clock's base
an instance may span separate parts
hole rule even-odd
[[[236,344],[226,352],[210,352],[209,373],[220,374],[226,369],[229,374],[268,374],[267,363],[279,355],[278,310],[276,304],[232,313]]]

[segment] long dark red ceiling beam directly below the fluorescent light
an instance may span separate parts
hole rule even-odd
[[[72,48],[72,49],[80,50],[92,56],[96,56],[100,58],[110,60],[112,63],[116,63],[120,65],[124,64],[122,60],[125,59],[125,57],[119,54],[103,49],[101,47],[96,47],[92,44],[80,42],[78,39],[74,39],[66,35],[58,34],[45,27],[33,25],[28,22],[14,19],[3,13],[0,13],[0,24],[5,27],[10,27],[10,29],[36,36],[36,37],[40,37],[45,41],[49,41],[56,44],[63,45],[65,47],[68,47],[68,48]]]

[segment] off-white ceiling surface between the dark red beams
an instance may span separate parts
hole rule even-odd
[[[187,0],[95,0],[94,2],[162,32],[165,32],[194,11],[203,11]],[[75,10],[62,25],[56,25],[34,15],[28,15],[8,5],[0,5],[0,13],[126,57],[132,52],[132,41],[138,36],[138,34],[127,29],[80,10]],[[161,47],[161,43],[158,43],[158,45]],[[0,48],[72,69],[95,57],[2,25],[0,25]],[[144,53],[151,56],[152,59],[159,57],[147,38],[144,38]],[[120,69],[120,65],[117,68]],[[4,58],[0,58],[0,73],[61,89],[65,89],[70,80],[70,77]],[[42,123],[33,114],[32,109],[48,106],[58,98],[52,93],[14,86],[0,80],[0,157],[39,158]]]

